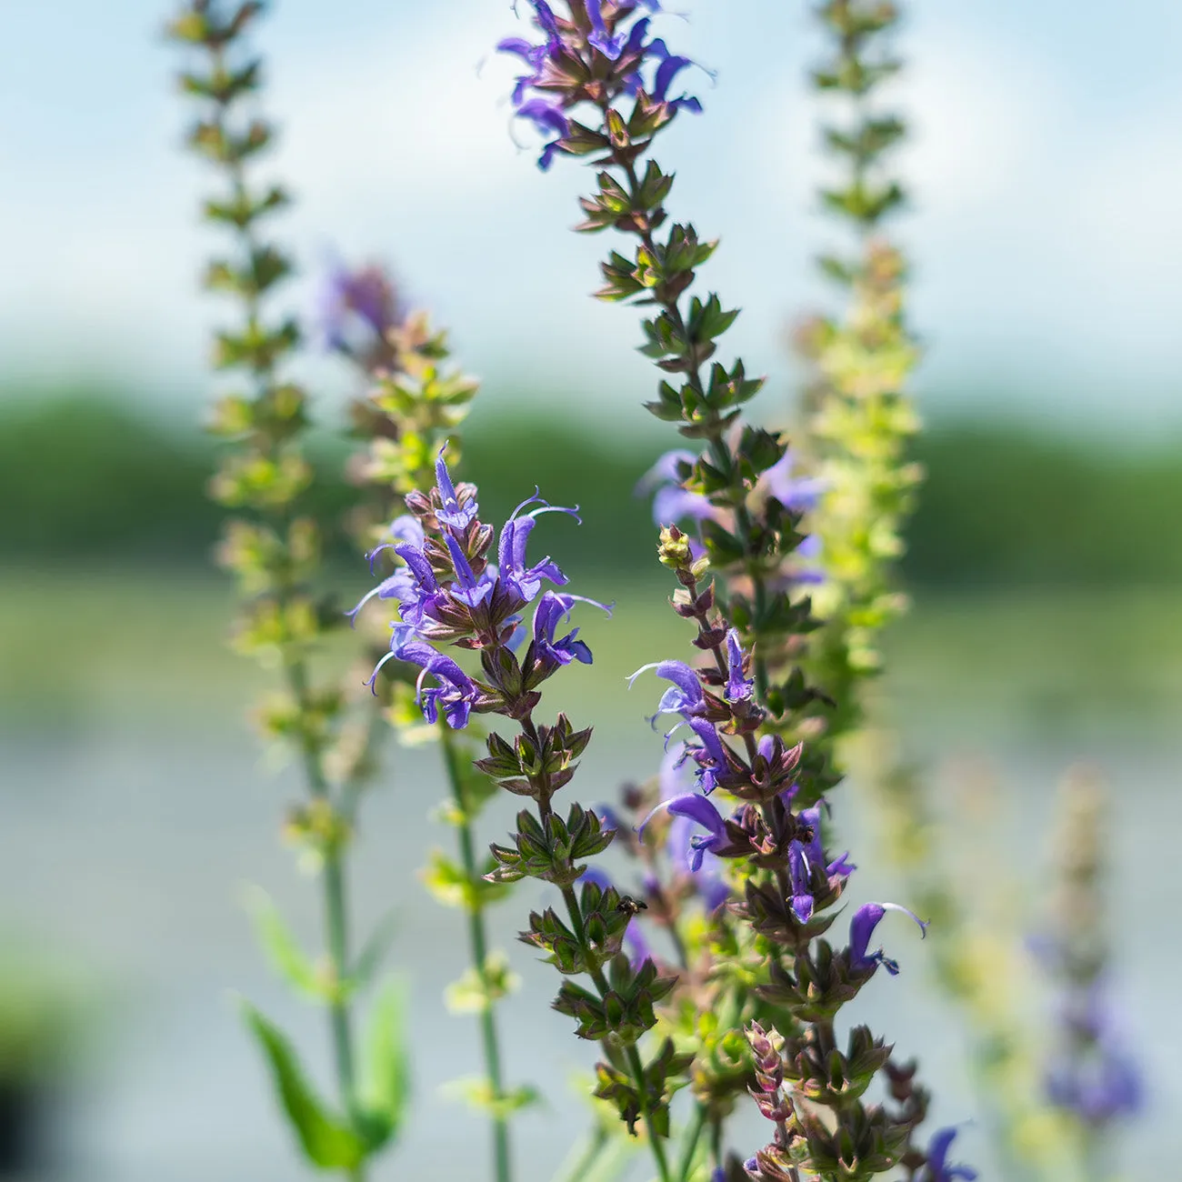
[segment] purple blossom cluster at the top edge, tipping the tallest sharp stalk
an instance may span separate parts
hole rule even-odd
[[[526,2],[543,40],[534,44],[507,37],[496,48],[525,63],[512,103],[519,118],[551,137],[538,160],[540,168],[550,168],[554,152],[566,150],[564,141],[572,131],[570,112],[579,103],[605,105],[621,95],[643,92],[673,111],[702,110],[689,95],[669,97],[674,79],[693,63],[670,53],[660,38],[649,39],[650,18],[638,14],[642,8],[660,12],[660,0],[580,0],[561,17],[546,0]],[[651,66],[655,70],[645,78]]]

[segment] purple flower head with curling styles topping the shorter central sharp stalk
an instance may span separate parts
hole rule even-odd
[[[578,629],[559,635],[576,603],[610,608],[583,596],[543,591],[543,584],[565,586],[566,576],[550,558],[530,564],[526,544],[543,513],[566,513],[578,520],[577,508],[550,505],[534,495],[522,501],[501,530],[496,561],[488,554],[493,527],[479,518],[474,485],[455,485],[440,449],[436,483],[430,493],[407,495],[410,513],[389,528],[391,540],[369,554],[392,551],[402,561],[350,612],[356,618],[371,599],[392,599],[398,618],[390,624],[390,651],[370,677],[376,682],[383,665],[405,661],[417,665],[417,693],[429,722],[441,715],[454,728],[468,725],[473,712],[521,715],[537,703],[537,687],[561,665],[591,663],[591,650],[578,638]],[[531,507],[533,506],[533,507]],[[535,604],[532,626],[522,610]],[[515,652],[526,641],[520,660]],[[453,644],[481,654],[487,680],[469,676],[436,644]],[[426,683],[427,677],[434,684]]]

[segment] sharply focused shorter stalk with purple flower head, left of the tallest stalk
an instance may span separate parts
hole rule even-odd
[[[578,803],[565,816],[554,808],[554,795],[573,778],[591,740],[590,728],[574,729],[564,714],[552,723],[534,717],[550,677],[570,664],[591,663],[578,628],[567,630],[572,611],[580,603],[603,608],[552,590],[567,584],[561,569],[550,558],[527,558],[540,515],[577,518],[576,511],[527,498],[501,528],[493,563],[494,530],[479,518],[476,488],[453,481],[443,452],[435,487],[405,500],[409,515],[391,527],[392,550],[403,565],[375,592],[396,600],[398,616],[390,625],[390,651],[374,678],[390,662],[405,662],[420,670],[416,691],[429,722],[442,719],[454,730],[480,714],[512,722],[509,738],[488,734],[488,754],[475,766],[534,807],[518,814],[512,844],[492,846],[495,866],[486,878],[493,885],[538,878],[561,892],[565,915],[553,908],[532,914],[521,939],[543,949],[567,978],[554,1008],[576,1020],[580,1038],[598,1041],[604,1051],[596,1095],[615,1105],[629,1128],[644,1123],[667,1182],[661,1138],[669,1128],[668,1085],[686,1063],[668,1041],[645,1063],[636,1043],[656,1024],[654,1005],[673,980],[661,976],[649,957],[630,960],[623,950],[629,901],[585,877],[585,859],[608,847],[613,830]],[[476,655],[480,673],[468,673],[444,648]],[[580,976],[590,979],[591,988],[576,983]]]

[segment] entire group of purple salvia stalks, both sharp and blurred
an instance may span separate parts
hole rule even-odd
[[[372,584],[352,610],[331,593],[320,556],[337,524],[307,508],[310,398],[292,376],[303,335],[298,318],[274,310],[293,262],[264,234],[288,197],[255,174],[274,138],[258,115],[262,72],[251,48],[262,6],[189,0],[170,34],[193,58],[182,74],[201,109],[190,144],[222,178],[206,216],[232,240],[207,284],[239,309],[214,357],[233,383],[214,415],[227,447],[212,494],[235,514],[220,554],[242,586],[238,643],[280,680],[260,717],[303,773],[305,799],[286,831],[320,884],[324,955],[309,957],[269,903],[260,930],[285,976],[326,1011],[335,1096],[246,1006],[248,1025],[309,1162],[368,1177],[403,1125],[408,1078],[396,988],[368,1006],[361,1035],[389,934],[356,940],[348,869],[365,790],[390,774],[392,728],[401,747],[437,745],[449,786],[441,816],[454,852],[429,855],[423,879],[466,920],[470,967],[447,1001],[476,1018],[482,1067],[460,1090],[491,1124],[496,1182],[515,1175],[511,1121],[537,1092],[506,1078],[498,1002],[515,976],[489,946],[486,913],[522,898],[514,886],[526,879],[540,902],[522,905],[521,940],[558,974],[553,1008],[597,1047],[595,1124],[565,1176],[611,1177],[635,1144],[661,1182],[975,1178],[956,1162],[956,1128],[926,1128],[916,1064],[845,1009],[900,972],[876,947],[889,915],[921,935],[930,920],[955,918],[950,896],[924,889],[922,876],[905,879],[908,907],[862,900],[842,915],[856,866],[836,846],[834,803],[850,740],[865,730],[879,636],[904,605],[892,563],[918,485],[907,460],[918,426],[907,392],[918,356],[907,266],[883,230],[903,201],[889,160],[905,129],[878,109],[879,85],[900,69],[897,9],[882,0],[816,7],[832,52],[813,82],[843,96],[847,113],[825,131],[847,167],[823,201],[852,227],[855,246],[820,260],[847,301],[798,335],[811,377],[790,446],[748,420],[762,379],[720,356],[739,313],[700,279],[717,241],[667,208],[675,177],[656,158],[658,141],[702,113],[693,91],[706,71],[658,35],[660,0],[518,7],[521,27],[498,45],[518,65],[514,115],[540,132],[544,171],[591,165],[577,229],[613,236],[597,296],[644,310],[642,351],[660,370],[647,408],[681,436],[642,487],[693,651],[648,654],[626,678],[638,709],[650,675],[667,684],[652,695],[654,728],[668,727],[663,749],[654,740],[655,774],[609,803],[583,791],[592,727],[554,708],[553,678],[565,683],[592,662],[577,621],[610,616],[611,605],[577,593],[565,563],[531,545],[540,517],[574,528],[579,509],[546,500],[524,467],[517,508],[499,527],[485,519],[478,486],[457,467],[475,383],[382,267],[343,262],[319,286],[313,326],[361,391],[348,526]],[[325,650],[351,654],[337,662],[350,671],[313,676]],[[481,816],[502,791],[518,798],[515,824],[483,853]],[[626,869],[602,857],[610,846]],[[1131,1109],[1136,1089],[1131,1074],[1115,1091],[1097,1083],[1111,1085],[1112,1065],[1130,1060],[1097,1000],[1105,976],[1095,931],[1064,918],[1096,913],[1084,896],[1098,869],[1085,863],[1070,863],[1064,891],[1074,902],[1059,908],[1064,922],[1047,942],[1067,1001],[1046,1084],[1047,1103],[1079,1122],[1083,1160],[1096,1162],[1089,1130]],[[904,939],[902,927],[884,930],[892,947]],[[761,1135],[748,1116],[764,1118]],[[1099,1182],[1098,1169],[1087,1182]]]

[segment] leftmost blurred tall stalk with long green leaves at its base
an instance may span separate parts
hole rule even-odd
[[[395,993],[374,1007],[366,1064],[359,1063],[355,1031],[357,995],[375,974],[382,950],[378,936],[355,948],[346,897],[346,856],[369,760],[346,758],[338,747],[346,695],[339,684],[313,681],[310,670],[310,655],[339,629],[342,616],[320,590],[322,526],[300,512],[301,494],[313,482],[303,450],[307,396],[286,372],[300,333],[294,319],[271,312],[271,297],[292,262],[261,229],[287,197],[252,176],[254,161],[273,139],[265,119],[246,113],[261,78],[261,64],[247,43],[260,11],[254,2],[221,8],[212,0],[191,0],[169,24],[169,33],[195,59],[194,69],[181,74],[182,89],[202,106],[189,143],[225,182],[204,213],[230,232],[233,246],[210,264],[206,284],[235,299],[241,312],[236,327],[217,332],[214,351],[215,366],[236,375],[214,416],[214,430],[232,446],[210,491],[240,514],[227,526],[221,558],[239,576],[246,597],[239,648],[280,670],[282,693],[260,713],[266,733],[293,749],[304,773],[306,799],[292,811],[287,829],[319,876],[323,961],[314,965],[306,957],[272,908],[260,916],[260,928],[290,982],[327,1011],[336,1105],[317,1095],[278,1027],[253,1007],[246,1007],[246,1017],[306,1158],[361,1182],[369,1161],[400,1128],[407,1073]]]

